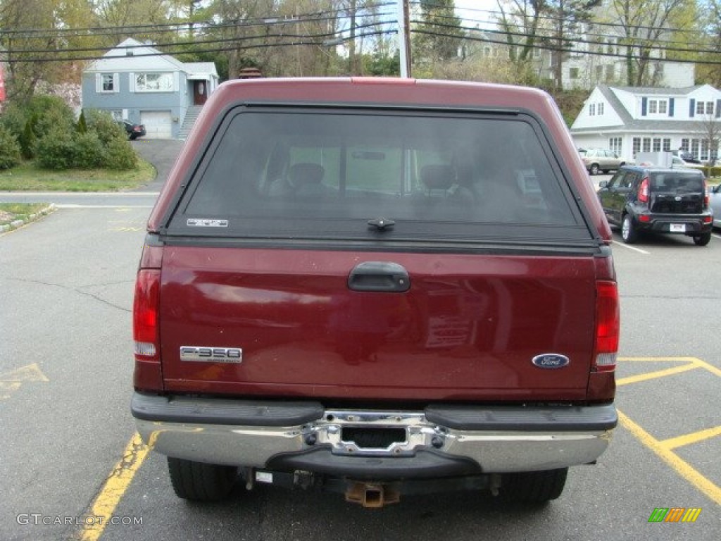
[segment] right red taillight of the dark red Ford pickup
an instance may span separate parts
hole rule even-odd
[[[597,371],[614,371],[619,351],[619,290],[616,282],[596,282],[596,348]]]

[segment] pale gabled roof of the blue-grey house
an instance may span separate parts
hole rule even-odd
[[[212,62],[183,63],[149,43],[133,38],[123,40],[89,64],[85,71],[184,71],[194,76],[218,76]]]

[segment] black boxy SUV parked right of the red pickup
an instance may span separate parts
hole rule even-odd
[[[701,171],[625,165],[600,186],[603,212],[624,242],[642,232],[685,234],[699,246],[711,240],[713,212]]]

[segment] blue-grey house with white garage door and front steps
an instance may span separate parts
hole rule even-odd
[[[184,138],[218,87],[211,62],[183,63],[128,38],[83,71],[84,109],[145,125],[149,138]]]

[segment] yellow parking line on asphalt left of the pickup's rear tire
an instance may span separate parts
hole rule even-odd
[[[95,498],[89,512],[89,517],[92,517],[92,520],[85,521],[85,526],[80,535],[82,541],[97,541],[102,535],[107,523],[112,518],[115,507],[118,506],[120,498],[128,490],[128,486],[130,486],[133,477],[135,477],[136,472],[143,464],[149,450],[150,448],[143,444],[140,435],[136,433],[128,446],[125,447],[123,458],[118,461],[110,475],[107,476],[105,485],[103,485],[102,490]],[[99,517],[102,517],[102,520]]]

